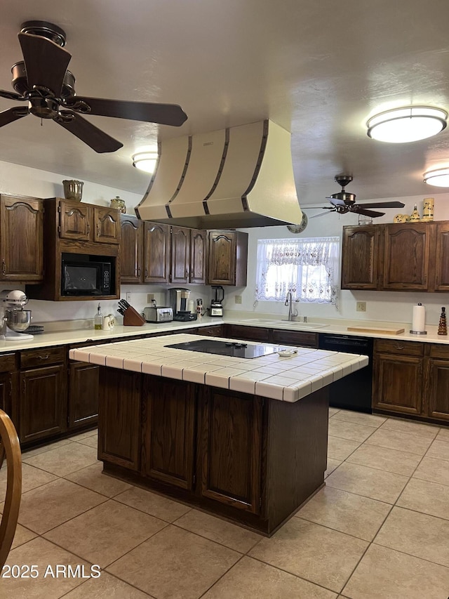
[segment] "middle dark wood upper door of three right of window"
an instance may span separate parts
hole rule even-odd
[[[427,291],[429,223],[385,225],[382,289]]]

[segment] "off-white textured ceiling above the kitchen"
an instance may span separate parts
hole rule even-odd
[[[180,104],[180,127],[87,117],[123,143],[96,154],[32,115],[0,130],[0,160],[143,193],[141,146],[272,119],[292,133],[302,205],[325,205],[350,173],[358,201],[429,195],[422,173],[449,164],[449,127],[391,145],[366,135],[375,112],[449,110],[447,0],[2,0],[0,88],[12,91],[25,20],[65,29],[80,96]],[[18,105],[0,99],[0,110]],[[1,190],[1,181],[0,181]],[[324,204],[323,204],[324,202]]]

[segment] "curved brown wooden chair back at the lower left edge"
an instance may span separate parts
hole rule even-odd
[[[6,499],[0,524],[0,572],[13,544],[22,495],[22,453],[19,437],[6,412],[0,409],[0,468],[6,457],[8,476]]]

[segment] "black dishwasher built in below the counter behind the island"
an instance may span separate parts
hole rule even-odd
[[[329,388],[331,407],[371,412],[373,381],[373,338],[349,335],[319,334],[319,349],[367,355],[368,366],[332,383]]]

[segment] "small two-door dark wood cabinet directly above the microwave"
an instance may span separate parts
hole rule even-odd
[[[119,244],[120,212],[113,208],[55,198],[61,239]]]

